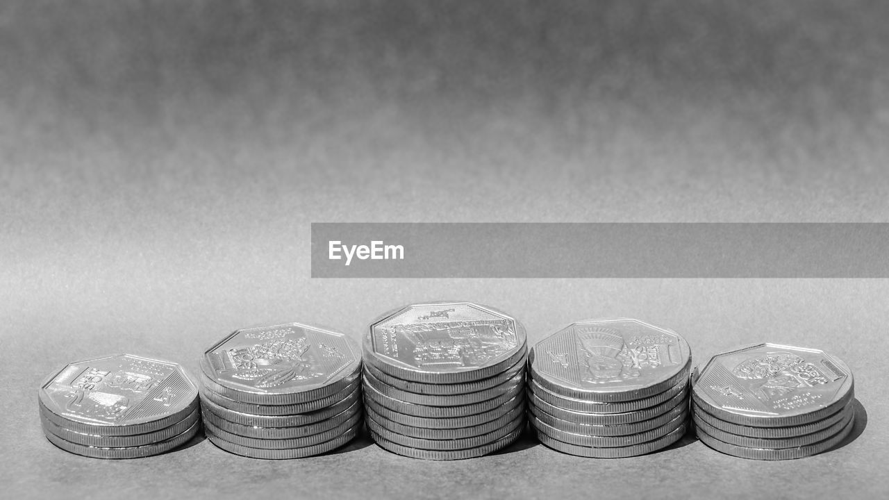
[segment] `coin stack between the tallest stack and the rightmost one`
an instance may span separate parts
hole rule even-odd
[[[673,331],[637,319],[573,323],[531,352],[531,425],[544,445],[576,456],[667,447],[685,435],[691,363]]]

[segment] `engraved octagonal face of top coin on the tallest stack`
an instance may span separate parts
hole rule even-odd
[[[514,319],[467,302],[414,304],[372,325],[371,334],[378,355],[431,371],[481,367],[525,342]]]

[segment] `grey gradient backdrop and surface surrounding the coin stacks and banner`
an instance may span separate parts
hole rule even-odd
[[[4,494],[885,495],[889,281],[311,279],[309,223],[889,222],[887,19],[877,1],[0,4]],[[532,342],[622,315],[700,360],[822,347],[855,370],[868,422],[779,464],[530,438],[456,463],[366,438],[300,461],[201,441],[105,462],[40,431],[37,384],[71,359],[194,369],[236,327],[358,337],[453,297],[514,312]]]

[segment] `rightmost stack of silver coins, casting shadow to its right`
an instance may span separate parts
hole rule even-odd
[[[760,343],[717,354],[692,390],[698,438],[757,460],[811,456],[852,431],[853,376],[834,356]]]

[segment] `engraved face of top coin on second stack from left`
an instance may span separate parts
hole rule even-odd
[[[238,330],[206,351],[202,366],[224,386],[279,392],[323,385],[358,359],[342,334],[291,323]]]

